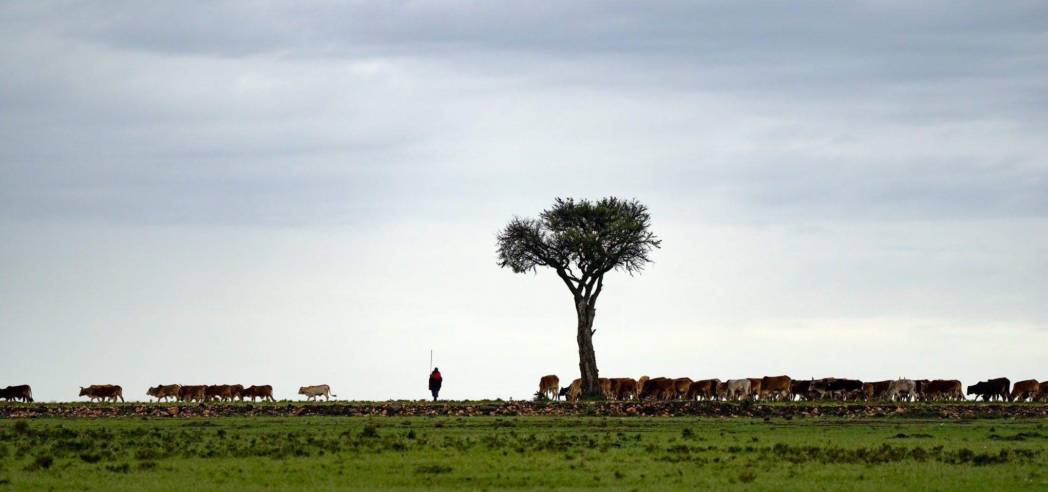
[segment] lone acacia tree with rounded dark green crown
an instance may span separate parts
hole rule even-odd
[[[649,253],[662,242],[650,228],[648,207],[636,199],[556,198],[539,218],[515,215],[498,232],[499,266],[518,274],[549,266],[571,291],[578,317],[583,397],[603,394],[593,351],[593,316],[604,274],[618,270],[632,276],[643,270],[652,261]]]

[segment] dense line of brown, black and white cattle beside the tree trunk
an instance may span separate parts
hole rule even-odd
[[[1007,378],[997,378],[968,386],[961,391],[957,380],[888,380],[864,383],[858,380],[823,378],[820,380],[793,380],[787,376],[767,376],[721,381],[718,379],[693,381],[690,378],[598,378],[597,382],[605,398],[613,400],[889,400],[889,401],[933,401],[966,400],[965,394],[982,397],[984,401],[1024,402],[1048,401],[1048,381],[1036,380],[1017,382]],[[564,397],[569,401],[578,399],[581,379],[570,386],[560,387],[561,380],[555,375],[539,380],[536,395],[545,394],[551,400]]]

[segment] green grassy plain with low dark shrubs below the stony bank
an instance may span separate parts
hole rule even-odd
[[[1044,419],[0,422],[5,490],[1048,490]]]

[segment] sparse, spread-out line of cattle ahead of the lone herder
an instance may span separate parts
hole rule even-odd
[[[161,384],[156,387],[149,388],[149,390],[146,391],[146,394],[155,398],[157,402],[161,399],[165,402],[169,401],[169,399],[174,399],[179,402],[204,402],[212,400],[232,402],[234,399],[238,399],[242,402],[245,398],[252,399],[253,402],[257,398],[261,398],[263,402],[266,400],[270,402],[276,401],[272,398],[272,386],[268,384],[262,386],[248,386],[246,388],[242,384]],[[331,397],[337,397],[337,394],[331,394],[331,387],[326,384],[303,386],[299,388],[299,394],[305,394],[306,400],[316,400],[321,395],[324,395],[325,400],[330,400]],[[92,402],[95,401],[95,399],[100,402],[107,400],[116,402],[116,399],[119,399],[121,402],[123,402],[124,388],[115,384],[92,384],[87,387],[81,386],[80,395],[87,397]],[[4,389],[0,389],[0,399],[5,401],[20,400],[28,403],[32,401],[32,388],[30,388],[27,384],[20,386],[7,386]]]

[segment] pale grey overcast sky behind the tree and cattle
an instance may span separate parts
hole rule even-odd
[[[604,196],[603,377],[1046,380],[1046,88],[1034,1],[3,2],[0,386],[529,399],[495,233]]]

